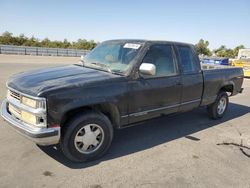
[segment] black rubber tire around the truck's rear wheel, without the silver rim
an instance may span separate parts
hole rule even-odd
[[[223,110],[223,112],[221,111],[222,113],[219,113],[218,112],[219,111],[218,107],[220,105],[221,100],[225,101],[226,106],[225,106],[225,109]],[[226,113],[226,111],[227,111],[228,102],[229,102],[229,100],[228,100],[227,93],[225,91],[221,91],[218,94],[216,101],[213,104],[209,105],[208,108],[207,108],[209,117],[211,119],[220,119],[220,118],[222,118],[224,116],[224,114]]]

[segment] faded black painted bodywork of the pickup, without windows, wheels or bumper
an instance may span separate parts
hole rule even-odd
[[[9,79],[7,85],[32,96],[45,97],[49,126],[60,124],[65,114],[76,108],[111,104],[119,112],[116,115],[119,116],[119,124],[122,127],[211,104],[225,85],[233,85],[233,95],[241,89],[241,68],[201,70],[194,50],[199,70],[192,74],[183,74],[176,46],[185,45],[193,49],[192,45],[164,41],[128,41],[140,42],[142,47],[124,76],[70,65],[16,74]],[[171,77],[143,78],[138,73],[139,65],[149,47],[159,43],[174,47],[179,74]],[[190,101],[195,102],[189,103]]]

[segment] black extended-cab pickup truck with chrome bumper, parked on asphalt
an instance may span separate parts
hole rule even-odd
[[[222,118],[228,96],[242,92],[241,68],[202,67],[185,43],[111,40],[81,61],[13,75],[1,110],[18,132],[60,144],[72,161],[103,155],[115,128],[200,106]]]

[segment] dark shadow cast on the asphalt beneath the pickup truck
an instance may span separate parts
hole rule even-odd
[[[88,168],[103,161],[150,149],[181,137],[196,142],[200,141],[202,138],[193,137],[191,134],[243,116],[249,112],[250,107],[248,106],[230,103],[226,115],[220,120],[209,119],[206,108],[200,108],[191,112],[150,120],[130,128],[116,130],[113,144],[108,153],[101,159],[88,163],[73,163],[69,161],[63,156],[59,147],[39,146],[39,148],[69,168]]]

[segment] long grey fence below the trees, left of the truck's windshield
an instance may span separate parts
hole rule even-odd
[[[88,52],[89,50],[0,45],[0,54],[80,57]]]

